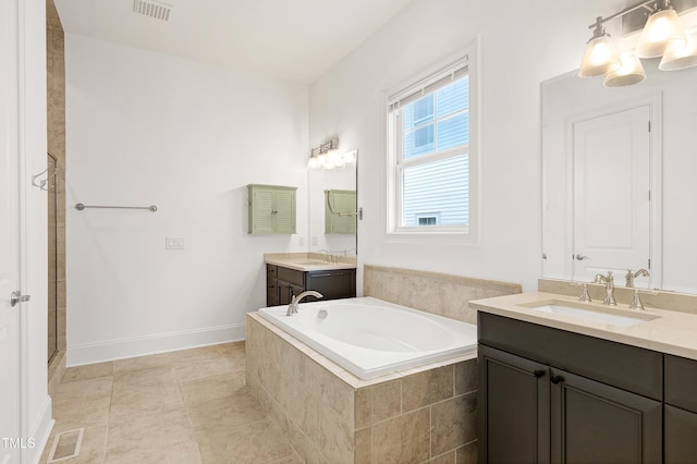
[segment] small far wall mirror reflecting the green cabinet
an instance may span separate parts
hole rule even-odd
[[[356,163],[308,172],[310,252],[357,255]]]

